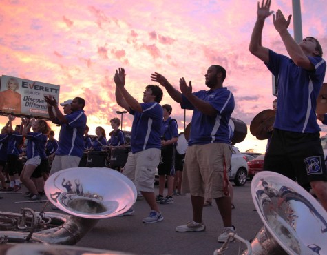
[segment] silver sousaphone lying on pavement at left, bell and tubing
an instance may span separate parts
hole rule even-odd
[[[44,189],[49,201],[70,215],[29,208],[0,212],[0,243],[74,245],[99,219],[126,212],[137,198],[134,183],[106,167],[61,170],[49,176]]]

